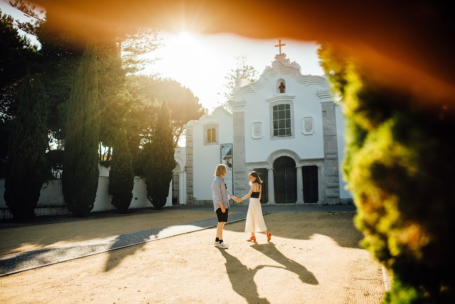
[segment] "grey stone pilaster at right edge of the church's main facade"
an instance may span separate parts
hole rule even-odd
[[[340,204],[340,183],[338,179],[338,142],[335,103],[321,102],[322,132],[324,142],[324,187],[323,200],[325,204]],[[322,173],[322,172],[321,172]],[[324,195],[325,194],[325,195]]]

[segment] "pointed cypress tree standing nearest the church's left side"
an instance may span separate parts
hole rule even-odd
[[[152,141],[145,145],[144,154],[147,162],[144,174],[147,185],[147,198],[155,209],[161,209],[166,205],[169,183],[172,180],[172,172],[176,166],[174,160],[174,136],[166,101],[161,104],[152,134]]]

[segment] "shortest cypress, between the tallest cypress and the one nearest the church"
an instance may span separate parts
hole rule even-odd
[[[111,204],[120,213],[127,212],[133,198],[134,173],[126,130],[120,129],[114,137],[112,163],[109,172]]]

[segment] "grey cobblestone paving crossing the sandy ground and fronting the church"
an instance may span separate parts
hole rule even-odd
[[[213,210],[212,207],[172,207],[182,209]],[[228,223],[243,220],[246,218],[247,206],[232,206],[231,212],[238,212],[229,215]],[[332,206],[263,206],[263,214],[271,212],[353,212],[352,205]],[[62,220],[66,221],[66,220]],[[53,221],[55,222],[55,221]],[[207,229],[217,225],[216,217],[196,220],[192,222],[159,227],[150,230],[110,236],[106,238],[93,239],[82,242],[75,242],[59,245],[51,248],[32,250],[27,252],[6,254],[0,256],[0,277],[14,273],[43,267],[62,261],[98,254],[110,250],[133,246],[145,242],[173,237],[185,233]]]

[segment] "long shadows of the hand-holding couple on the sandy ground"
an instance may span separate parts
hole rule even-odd
[[[221,254],[226,258],[226,273],[229,276],[232,288],[237,294],[244,297],[248,303],[269,303],[267,299],[259,297],[257,286],[254,282],[256,273],[264,267],[285,269],[297,274],[302,283],[311,285],[318,284],[318,281],[311,272],[298,262],[287,258],[275,247],[275,244],[254,244],[251,247],[273,259],[282,266],[259,265],[254,269],[249,269],[246,265],[242,264],[238,258],[229,254],[227,250],[220,249]]]

